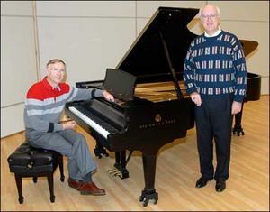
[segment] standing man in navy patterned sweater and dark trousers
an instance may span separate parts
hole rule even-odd
[[[238,38],[220,29],[220,9],[200,9],[205,32],[196,37],[184,62],[184,83],[195,106],[197,147],[202,177],[196,187],[216,180],[216,191],[226,189],[229,178],[232,118],[241,111],[246,95],[247,68]],[[217,166],[214,171],[213,143]]]

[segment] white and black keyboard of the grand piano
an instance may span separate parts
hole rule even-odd
[[[75,115],[77,115],[78,117],[80,117],[86,124],[89,124],[95,131],[97,131],[99,134],[103,135],[104,138],[107,139],[108,134],[112,134],[115,133],[115,130],[113,129],[105,129],[105,128],[109,128],[108,125],[107,127],[104,125],[104,123],[97,123],[96,121],[92,120],[91,118],[89,118],[88,116],[86,116],[85,114],[83,114],[81,111],[79,111],[78,109],[76,109],[76,107],[74,106],[70,106],[68,107],[68,109],[74,113]]]

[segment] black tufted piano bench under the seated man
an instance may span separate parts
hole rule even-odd
[[[54,202],[53,173],[59,165],[60,180],[63,182],[63,156],[52,150],[32,147],[29,143],[22,143],[7,159],[10,172],[14,172],[19,202],[23,204],[22,178],[32,177],[34,183],[38,177],[47,177],[49,184],[50,202]]]

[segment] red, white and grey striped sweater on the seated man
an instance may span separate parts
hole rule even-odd
[[[73,88],[66,83],[60,83],[58,88],[53,88],[44,78],[31,86],[27,92],[24,108],[25,127],[40,133],[63,130],[59,121],[68,101],[102,96],[102,90]]]

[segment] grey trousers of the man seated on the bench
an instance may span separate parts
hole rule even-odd
[[[76,133],[75,130],[40,133],[32,129],[26,129],[25,135],[32,146],[54,150],[67,156],[67,169],[69,177],[72,179],[84,180],[87,173],[96,169],[85,136]]]

